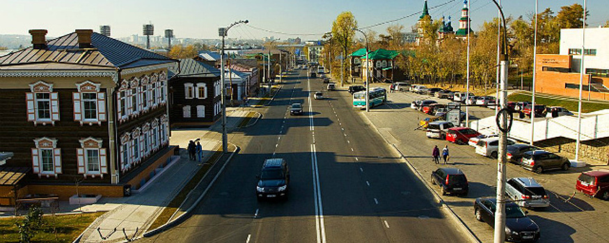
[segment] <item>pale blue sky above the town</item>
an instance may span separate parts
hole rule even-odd
[[[607,1],[587,2],[589,26],[609,20]],[[113,37],[126,37],[141,35],[142,25],[152,23],[155,35],[164,35],[165,29],[172,28],[175,37],[218,38],[219,27],[248,19],[247,26],[230,28],[228,37],[318,40],[331,31],[332,22],[344,11],[351,11],[360,27],[412,15],[372,28],[377,33],[386,33],[391,24],[402,24],[410,30],[423,3],[424,0],[2,0],[0,34],[29,35],[29,29],[44,28],[49,31],[47,36],[56,37],[77,28],[98,32],[99,26],[109,25]],[[503,0],[503,3],[506,17],[526,18],[535,12],[534,0]],[[539,0],[539,12],[551,8],[556,13],[560,6],[574,3],[583,5],[583,0]],[[450,15],[457,30],[463,0],[428,0],[428,6],[432,19]],[[491,0],[470,0],[470,10],[473,31],[497,16]]]

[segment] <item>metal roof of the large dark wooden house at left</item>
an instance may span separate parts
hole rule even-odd
[[[91,48],[81,49],[76,32],[47,41],[46,49],[28,47],[0,57],[1,69],[127,69],[175,62],[174,59],[93,33]]]

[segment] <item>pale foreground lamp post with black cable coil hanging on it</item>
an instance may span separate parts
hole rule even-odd
[[[507,111],[507,67],[509,60],[507,56],[507,29],[505,25],[505,16],[503,10],[496,0],[493,3],[499,9],[501,15],[501,21],[503,22],[503,43],[501,44],[501,56],[500,56],[500,110],[497,113],[498,128],[499,128],[499,153],[497,156],[497,203],[495,212],[495,231],[494,231],[494,242],[503,243],[505,242],[505,176],[507,166],[505,165],[506,153],[507,153],[507,132],[509,132],[509,125],[507,124],[507,117],[509,111]],[[501,23],[500,23],[501,24]]]

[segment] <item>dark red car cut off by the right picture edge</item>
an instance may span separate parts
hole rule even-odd
[[[588,196],[609,200],[609,171],[584,171],[577,178],[575,189]]]

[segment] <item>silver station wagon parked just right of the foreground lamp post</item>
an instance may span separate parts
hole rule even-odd
[[[546,190],[534,178],[510,178],[505,183],[505,194],[523,208],[548,208],[550,206]]]

